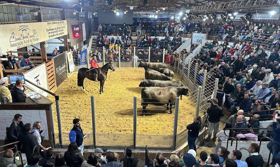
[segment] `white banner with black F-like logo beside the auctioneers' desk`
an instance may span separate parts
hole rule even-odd
[[[35,68],[33,68],[32,70],[29,70],[27,73],[24,74],[24,78],[28,79],[29,81],[33,82],[34,84],[37,84],[38,86],[45,88],[48,90],[48,79],[47,79],[47,68],[46,68],[46,64],[42,63],[38,66],[36,66]],[[29,82],[25,82],[25,84],[27,84],[28,86],[30,86],[31,88],[33,88],[35,91],[37,91],[38,93],[40,93],[41,95],[47,97],[48,93],[43,91],[40,88],[37,88],[36,86],[30,84]]]

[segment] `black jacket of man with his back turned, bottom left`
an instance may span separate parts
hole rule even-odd
[[[21,132],[18,136],[18,140],[21,140],[22,147],[20,149],[21,153],[25,153],[27,158],[31,157],[33,153],[33,148],[37,146],[40,150],[40,146],[37,142],[37,138],[32,132]]]

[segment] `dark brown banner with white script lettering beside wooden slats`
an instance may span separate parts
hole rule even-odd
[[[66,53],[63,52],[53,58],[54,63],[55,63],[56,86],[57,87],[67,78],[65,54]]]

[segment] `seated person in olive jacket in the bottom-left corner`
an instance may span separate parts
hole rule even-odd
[[[13,157],[14,157],[13,151],[11,149],[7,149],[4,152],[3,157],[0,158],[0,167],[6,167],[9,164],[13,164],[14,163],[14,158]],[[23,160],[22,165],[25,165],[25,164],[26,164],[26,160]],[[16,159],[16,166],[20,167],[22,165],[21,165],[21,161]]]

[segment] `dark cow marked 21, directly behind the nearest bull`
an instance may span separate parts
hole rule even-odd
[[[139,84],[139,87],[169,87],[169,86],[174,86],[174,87],[179,87],[179,86],[184,86],[181,82],[179,81],[162,81],[162,80],[150,80],[150,79],[143,79],[141,83]]]

